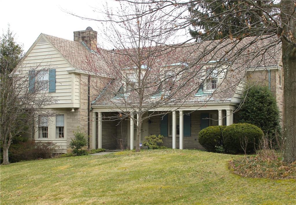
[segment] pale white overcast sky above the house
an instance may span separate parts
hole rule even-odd
[[[40,33],[73,40],[73,31],[85,30],[88,26],[98,31],[99,23],[82,20],[65,10],[83,17],[102,19],[99,11],[104,10],[106,2],[109,7],[118,6],[118,2],[114,0],[2,0],[0,1],[1,34],[3,31],[6,32],[9,23],[10,29],[16,34],[16,41],[24,45],[25,52]]]

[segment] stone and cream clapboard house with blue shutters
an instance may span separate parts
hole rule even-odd
[[[239,51],[251,40],[253,37],[244,38],[231,52]],[[164,146],[203,149],[198,143],[201,129],[238,121],[237,110],[246,83],[269,86],[282,112],[281,44],[263,50],[270,41],[263,38],[236,59],[227,50],[231,42],[218,40],[186,44],[189,46],[158,55],[151,64],[143,62],[142,73],[150,75],[146,78],[149,91],[140,143],[147,135],[161,134]],[[116,149],[120,143],[134,148],[137,114],[133,111],[137,105],[133,103],[137,100],[133,92],[137,80],[130,72],[133,65],[122,53],[98,49],[96,45],[97,32],[90,27],[75,31],[74,41],[41,33],[22,59],[17,69],[29,72],[31,67],[48,68],[48,75],[42,78],[48,82],[44,91],[57,98],[57,103],[47,107],[56,116],[38,117],[35,141],[53,141],[63,152],[69,151],[73,130],[81,127],[90,136],[89,148]],[[208,51],[207,56],[200,58],[204,51]],[[192,59],[202,60],[193,65]],[[122,112],[129,114],[118,117]]]

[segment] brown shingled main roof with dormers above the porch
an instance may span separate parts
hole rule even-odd
[[[257,69],[261,67],[277,66],[281,58],[281,43],[279,38],[273,36],[247,37],[221,42],[204,41],[202,43],[187,43],[184,46],[172,47],[169,49],[160,49],[163,52],[158,52],[154,57],[154,62],[151,64],[151,72],[149,78],[152,79],[153,85],[147,85],[146,99],[144,105],[153,103],[165,103],[169,105],[176,104],[197,104],[204,102],[225,102],[231,101],[234,94],[237,92],[237,87],[244,83],[244,76],[247,69]],[[122,69],[128,67],[129,59],[127,55],[120,51],[110,51],[106,64],[112,67],[112,72],[116,68]],[[205,55],[206,53],[206,55]],[[105,53],[106,54],[106,53]],[[101,58],[102,59],[102,58]],[[186,63],[186,66],[184,66]],[[208,95],[198,95],[197,91],[200,86],[205,83],[205,65],[222,63],[227,64],[225,67],[224,78],[219,83],[218,88]],[[182,65],[182,72],[179,80],[175,80],[175,91],[167,91],[173,93],[169,99],[165,97],[151,97],[153,93],[157,93],[159,84],[156,78],[161,78],[161,68],[169,67],[170,65]],[[110,66],[111,65],[111,66]],[[118,72],[120,73],[120,72]],[[184,77],[185,76],[185,77]],[[180,80],[182,79],[182,80]],[[147,78],[148,80],[148,78]],[[149,84],[149,83],[148,83]],[[126,95],[124,99],[120,99],[120,95],[116,92],[120,91],[123,85],[123,78],[117,75],[111,82],[106,84],[106,87],[98,96],[93,106],[124,106],[124,102],[132,104],[137,101],[136,93]],[[169,94],[168,94],[169,95]],[[157,95],[156,95],[157,96]],[[145,98],[145,96],[144,96]]]

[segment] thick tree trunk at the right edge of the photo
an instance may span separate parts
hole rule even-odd
[[[295,6],[293,1],[281,1],[284,35],[294,36],[295,41]],[[287,15],[288,14],[288,15]],[[290,17],[289,15],[292,15]],[[284,70],[284,162],[296,161],[296,47],[282,38],[282,62]]]

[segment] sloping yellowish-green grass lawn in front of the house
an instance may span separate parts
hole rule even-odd
[[[234,155],[124,151],[1,166],[1,204],[296,204],[295,180],[240,177]]]

